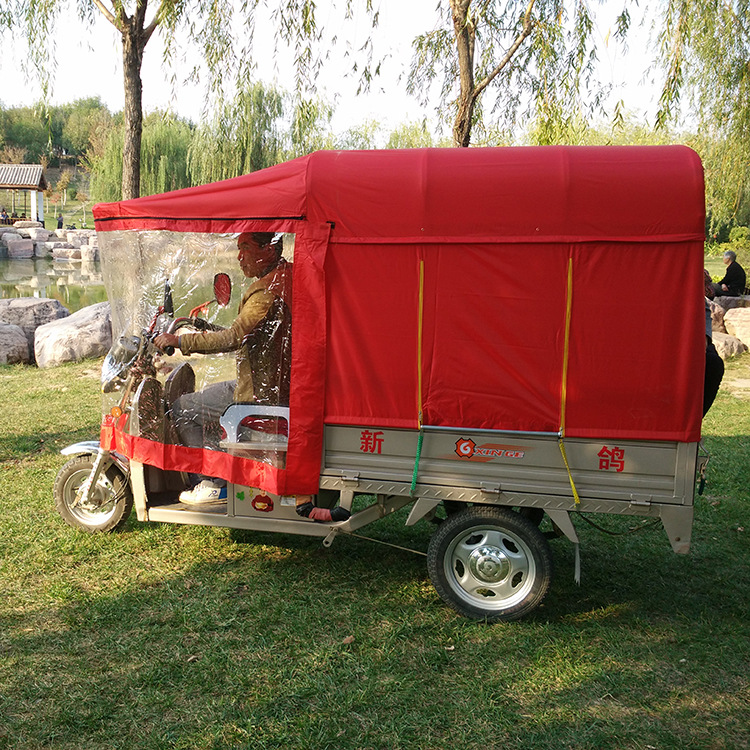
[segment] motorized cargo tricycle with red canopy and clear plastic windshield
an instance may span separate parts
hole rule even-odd
[[[438,594],[488,621],[547,593],[545,516],[576,549],[581,514],[651,517],[686,553],[704,465],[703,200],[689,149],[548,147],[318,152],[96,206],[115,343],[100,441],[63,451],[57,508],[87,531],[134,506],[330,546],[410,505],[407,524],[440,521]],[[232,324],[236,241],[254,231],[283,236],[294,268],[288,398],[229,403],[188,445],[175,404],[231,380],[257,342],[190,357],[153,342]],[[181,502],[195,475],[225,480],[226,498]],[[301,502],[351,516],[316,523]]]

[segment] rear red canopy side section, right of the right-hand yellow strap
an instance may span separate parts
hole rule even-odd
[[[704,324],[685,300],[701,299],[702,252],[690,244],[574,249],[566,435],[699,439]]]

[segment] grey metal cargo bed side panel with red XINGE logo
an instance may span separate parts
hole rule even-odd
[[[593,513],[692,506],[697,444],[327,426],[321,487]],[[571,478],[580,497],[576,507]],[[649,510],[651,509],[651,510]]]

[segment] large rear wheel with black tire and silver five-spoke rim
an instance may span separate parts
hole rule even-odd
[[[438,526],[427,570],[440,597],[466,617],[518,620],[539,606],[552,580],[544,535],[508,508],[474,506]]]

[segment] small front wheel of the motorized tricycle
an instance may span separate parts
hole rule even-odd
[[[95,458],[89,455],[71,458],[57,472],[52,490],[55,507],[63,520],[90,534],[120,528],[133,509],[130,485],[116,466],[109,466],[99,475],[87,505],[76,504],[76,493],[91,474]]]

